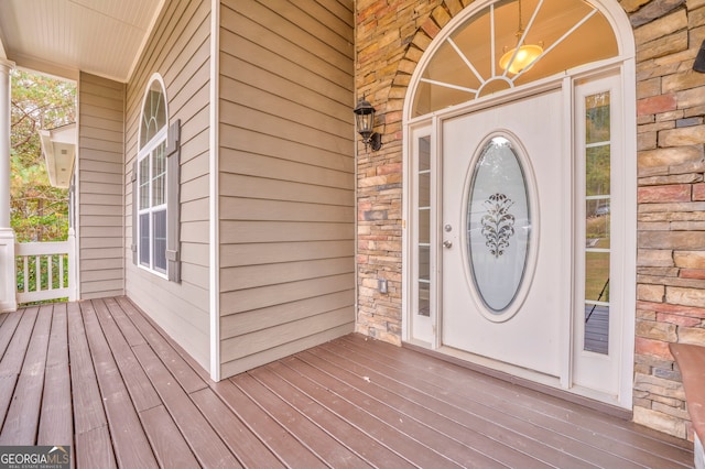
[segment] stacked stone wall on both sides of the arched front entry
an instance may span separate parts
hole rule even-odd
[[[614,0],[617,1],[617,0]],[[358,145],[357,330],[401,342],[402,109],[433,37],[473,0],[357,0],[358,97],[384,145]],[[637,44],[634,421],[692,439],[669,342],[705,345],[705,0],[621,0]],[[618,184],[618,182],[615,182]],[[389,293],[377,290],[387,279]]]

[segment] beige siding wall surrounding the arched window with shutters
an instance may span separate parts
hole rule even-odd
[[[209,368],[208,167],[210,2],[165,3],[127,86],[124,175],[127,293],[206,369]],[[132,162],[149,79],[166,86],[170,123],[181,119],[181,283],[132,263]]]

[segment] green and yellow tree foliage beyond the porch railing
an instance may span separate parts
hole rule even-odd
[[[68,190],[52,187],[37,131],[76,120],[74,83],[13,70],[10,134],[11,225],[18,241],[68,236]]]

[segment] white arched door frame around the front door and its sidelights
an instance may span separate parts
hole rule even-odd
[[[417,87],[420,76],[422,70],[425,67],[425,64],[433,57],[435,50],[440,46],[440,44],[445,41],[445,39],[463,21],[468,19],[474,13],[480,11],[487,4],[491,3],[495,0],[485,0],[477,1],[469,6],[465,12],[456,15],[438,34],[432,44],[429,46],[426,52],[424,53],[422,59],[414,72],[412,80],[410,83],[410,87],[408,90],[408,96],[404,102],[404,126],[403,126],[403,233],[402,233],[402,340],[417,343],[422,347],[426,347],[430,349],[440,349],[441,340],[440,340],[440,316],[432,312],[431,317],[429,318],[429,327],[431,328],[431,340],[416,340],[414,338],[414,334],[412,331],[411,323],[413,320],[412,315],[412,306],[413,302],[413,293],[414,293],[414,279],[411,277],[413,270],[410,269],[410,259],[414,257],[414,244],[413,244],[413,232],[411,232],[411,227],[413,226],[413,220],[415,214],[413,212],[413,174],[411,173],[412,165],[410,164],[413,159],[413,145],[412,139],[414,138],[414,132],[417,129],[425,129],[425,131],[430,130],[430,134],[432,135],[432,152],[434,155],[440,154],[441,152],[441,139],[438,138],[440,132],[440,121],[443,119],[467,113],[470,111],[476,111],[480,109],[485,109],[488,107],[494,107],[500,105],[502,102],[507,102],[509,100],[521,98],[522,96],[529,96],[535,92],[540,92],[542,89],[549,89],[551,87],[555,87],[556,80],[562,80],[561,86],[564,87],[566,92],[572,92],[573,79],[579,78],[581,76],[593,75],[599,73],[603,69],[615,68],[618,67],[620,70],[620,79],[622,84],[622,95],[623,95],[623,114],[625,120],[622,122],[623,130],[623,149],[625,149],[625,184],[618,187],[622,194],[626,211],[626,221],[625,221],[625,233],[623,233],[623,246],[631,247],[632,249],[625,249],[622,253],[623,259],[623,271],[622,280],[623,284],[623,295],[622,301],[619,307],[623,310],[622,314],[622,339],[621,339],[621,359],[620,359],[620,377],[619,377],[619,392],[618,395],[608,401],[610,404],[618,405],[625,408],[631,408],[632,406],[632,371],[633,371],[633,345],[634,345],[634,324],[636,324],[636,257],[637,257],[637,223],[636,223],[636,186],[637,186],[637,126],[636,126],[636,65],[634,65],[634,44],[633,44],[633,33],[631,30],[631,25],[625,14],[621,7],[615,1],[610,0],[590,0],[590,3],[598,7],[600,11],[608,18],[610,24],[614,28],[616,37],[619,42],[620,55],[612,59],[604,61],[597,64],[589,64],[587,66],[577,67],[575,69],[570,70],[566,75],[562,77],[549,77],[542,80],[538,80],[531,84],[528,84],[521,88],[511,90],[505,94],[498,94],[499,96],[490,96],[486,98],[478,98],[470,103],[458,105],[452,108],[444,109],[442,111],[432,112],[426,116],[422,116],[419,118],[412,118],[412,103],[414,100],[414,91]],[[567,87],[567,89],[565,89]],[[565,118],[568,122],[572,122],[572,102],[567,100],[564,109]],[[564,145],[566,149],[566,154],[572,154],[573,152],[573,142],[570,138],[564,139]],[[571,168],[570,177],[573,177],[574,168]],[[438,190],[440,184],[434,184],[434,190],[436,200],[440,200]],[[572,207],[572,204],[567,205]],[[436,207],[435,211],[440,207]],[[570,210],[568,210],[570,211]],[[565,214],[566,216],[571,216],[572,214]],[[435,220],[435,228],[440,229],[437,226],[437,220]],[[433,222],[433,220],[432,220]],[[574,226],[574,223],[573,223]],[[438,233],[436,233],[436,239],[438,239]],[[574,236],[571,236],[571,239],[574,239]],[[437,244],[437,242],[436,242]],[[570,244],[568,244],[570,246]],[[571,249],[571,252],[564,253],[565,255],[574,255],[574,249]],[[433,249],[432,249],[433,252]],[[434,259],[435,258],[435,259]],[[432,294],[432,309],[435,308],[437,312],[440,307],[438,302],[438,291],[441,288],[440,277],[440,265],[437,262],[438,255],[437,253],[434,255],[432,253],[432,282],[434,283],[435,293]],[[572,263],[574,265],[574,262]],[[565,272],[565,275],[570,277],[574,277],[573,272]],[[572,296],[572,292],[565,292],[566,295]],[[565,315],[568,316],[568,315]],[[563,319],[564,324],[561,325],[562,330],[565,334],[562,335],[563,342],[561,343],[561,349],[565,350],[562,353],[562,374],[560,382],[557,383],[546,383],[549,385],[553,385],[556,388],[562,388],[568,390],[570,392],[586,395],[588,397],[598,399],[605,401],[604,396],[597,395],[596,393],[589,390],[583,390],[579,388],[572,386],[572,349],[573,349],[573,323],[572,317],[567,317]],[[482,363],[492,366],[492,363]],[[530,377],[531,379],[531,377]],[[541,381],[541,380],[536,380]]]

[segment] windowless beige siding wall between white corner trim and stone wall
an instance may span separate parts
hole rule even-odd
[[[221,2],[228,377],[352,330],[352,1]]]

